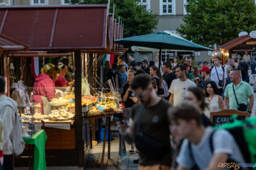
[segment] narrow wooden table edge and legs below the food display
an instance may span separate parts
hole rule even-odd
[[[102,150],[102,155],[101,155],[101,168],[103,168],[103,163],[104,163],[104,156],[105,156],[105,147],[106,147],[106,134],[108,130],[108,159],[110,159],[110,118],[112,115],[101,115],[101,116],[92,116],[92,117],[87,117],[83,119],[101,119],[101,118],[106,118],[106,124],[105,124],[105,132],[104,132],[104,140],[103,140],[103,150]],[[107,128],[108,126],[108,128]]]

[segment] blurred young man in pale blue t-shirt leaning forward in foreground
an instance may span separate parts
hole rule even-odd
[[[197,106],[183,103],[170,108],[168,116],[171,124],[169,129],[174,139],[184,139],[176,158],[177,169],[186,170],[197,166],[203,170],[218,170],[222,169],[219,164],[227,163],[228,159],[234,163],[245,163],[236,140],[228,131],[202,126],[202,116]]]

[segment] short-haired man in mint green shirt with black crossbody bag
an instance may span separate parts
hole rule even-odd
[[[254,91],[249,83],[241,81],[239,70],[231,70],[230,79],[232,83],[228,84],[224,92],[224,107],[226,109],[235,109],[239,111],[248,111],[249,116],[254,106]],[[248,99],[250,102],[248,102]]]

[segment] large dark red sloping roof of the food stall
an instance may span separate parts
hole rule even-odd
[[[32,51],[106,49],[108,5],[0,7],[0,34]]]

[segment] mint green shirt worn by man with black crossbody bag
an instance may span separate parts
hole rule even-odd
[[[236,92],[236,97],[234,95],[233,86]],[[238,108],[236,98],[239,104],[244,103],[249,107],[248,97],[253,94],[254,91],[252,90],[252,87],[250,87],[250,84],[244,81],[241,81],[237,87],[233,83],[228,84],[224,92],[224,96],[229,99],[229,109],[235,110]]]

